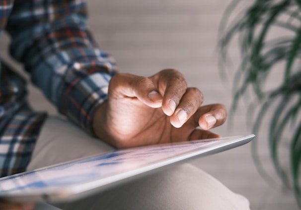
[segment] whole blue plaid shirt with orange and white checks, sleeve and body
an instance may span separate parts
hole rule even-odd
[[[11,56],[61,113],[92,134],[116,66],[97,48],[86,20],[84,0],[0,0],[0,32],[11,37]],[[2,64],[0,176],[26,169],[46,118],[28,108],[26,93],[24,80]]]

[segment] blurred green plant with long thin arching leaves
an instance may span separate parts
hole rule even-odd
[[[243,3],[247,5],[239,9]],[[238,15],[230,20],[231,15],[237,14],[237,9]],[[294,191],[301,209],[301,0],[232,0],[221,22],[220,35],[223,71],[229,61],[231,41],[236,38],[241,56],[234,77],[230,113],[235,112],[242,96],[251,90],[256,96],[255,106],[260,107],[253,124],[254,133],[258,134],[263,118],[273,111],[268,134],[271,157],[279,177]],[[281,84],[266,90],[268,76],[275,71]],[[290,139],[290,171],[284,169],[279,159],[279,145],[285,129],[291,130],[291,136],[285,137]],[[256,145],[255,140],[253,157],[265,176]]]

